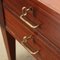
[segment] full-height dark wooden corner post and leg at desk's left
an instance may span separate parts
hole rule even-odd
[[[15,39],[6,30],[3,1],[0,0],[0,27],[8,54],[8,60],[16,60]],[[12,40],[12,41],[11,41]],[[2,56],[3,57],[3,56]]]

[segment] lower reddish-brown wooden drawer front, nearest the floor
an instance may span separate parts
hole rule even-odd
[[[27,29],[22,23],[19,22],[19,19],[16,16],[13,16],[6,8],[5,12],[5,21],[6,29],[12,34],[19,42],[22,41],[24,36],[32,35],[32,38],[29,39],[26,46],[33,52],[39,51],[37,54],[33,54],[37,60],[59,60],[59,54],[54,53],[47,47],[47,44],[43,41],[43,38],[38,37],[29,29]],[[50,47],[50,46],[49,46]]]

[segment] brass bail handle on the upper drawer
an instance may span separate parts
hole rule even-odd
[[[35,29],[35,28],[37,28],[39,25],[32,25],[31,23],[29,23],[28,21],[26,21],[23,17],[25,17],[27,14],[28,14],[28,11],[32,11],[33,12],[33,10],[32,10],[32,8],[30,7],[30,8],[26,8],[26,7],[23,7],[22,8],[22,14],[20,15],[20,19],[23,21],[23,22],[25,22],[28,26],[30,26],[31,28],[33,28],[33,29]]]

